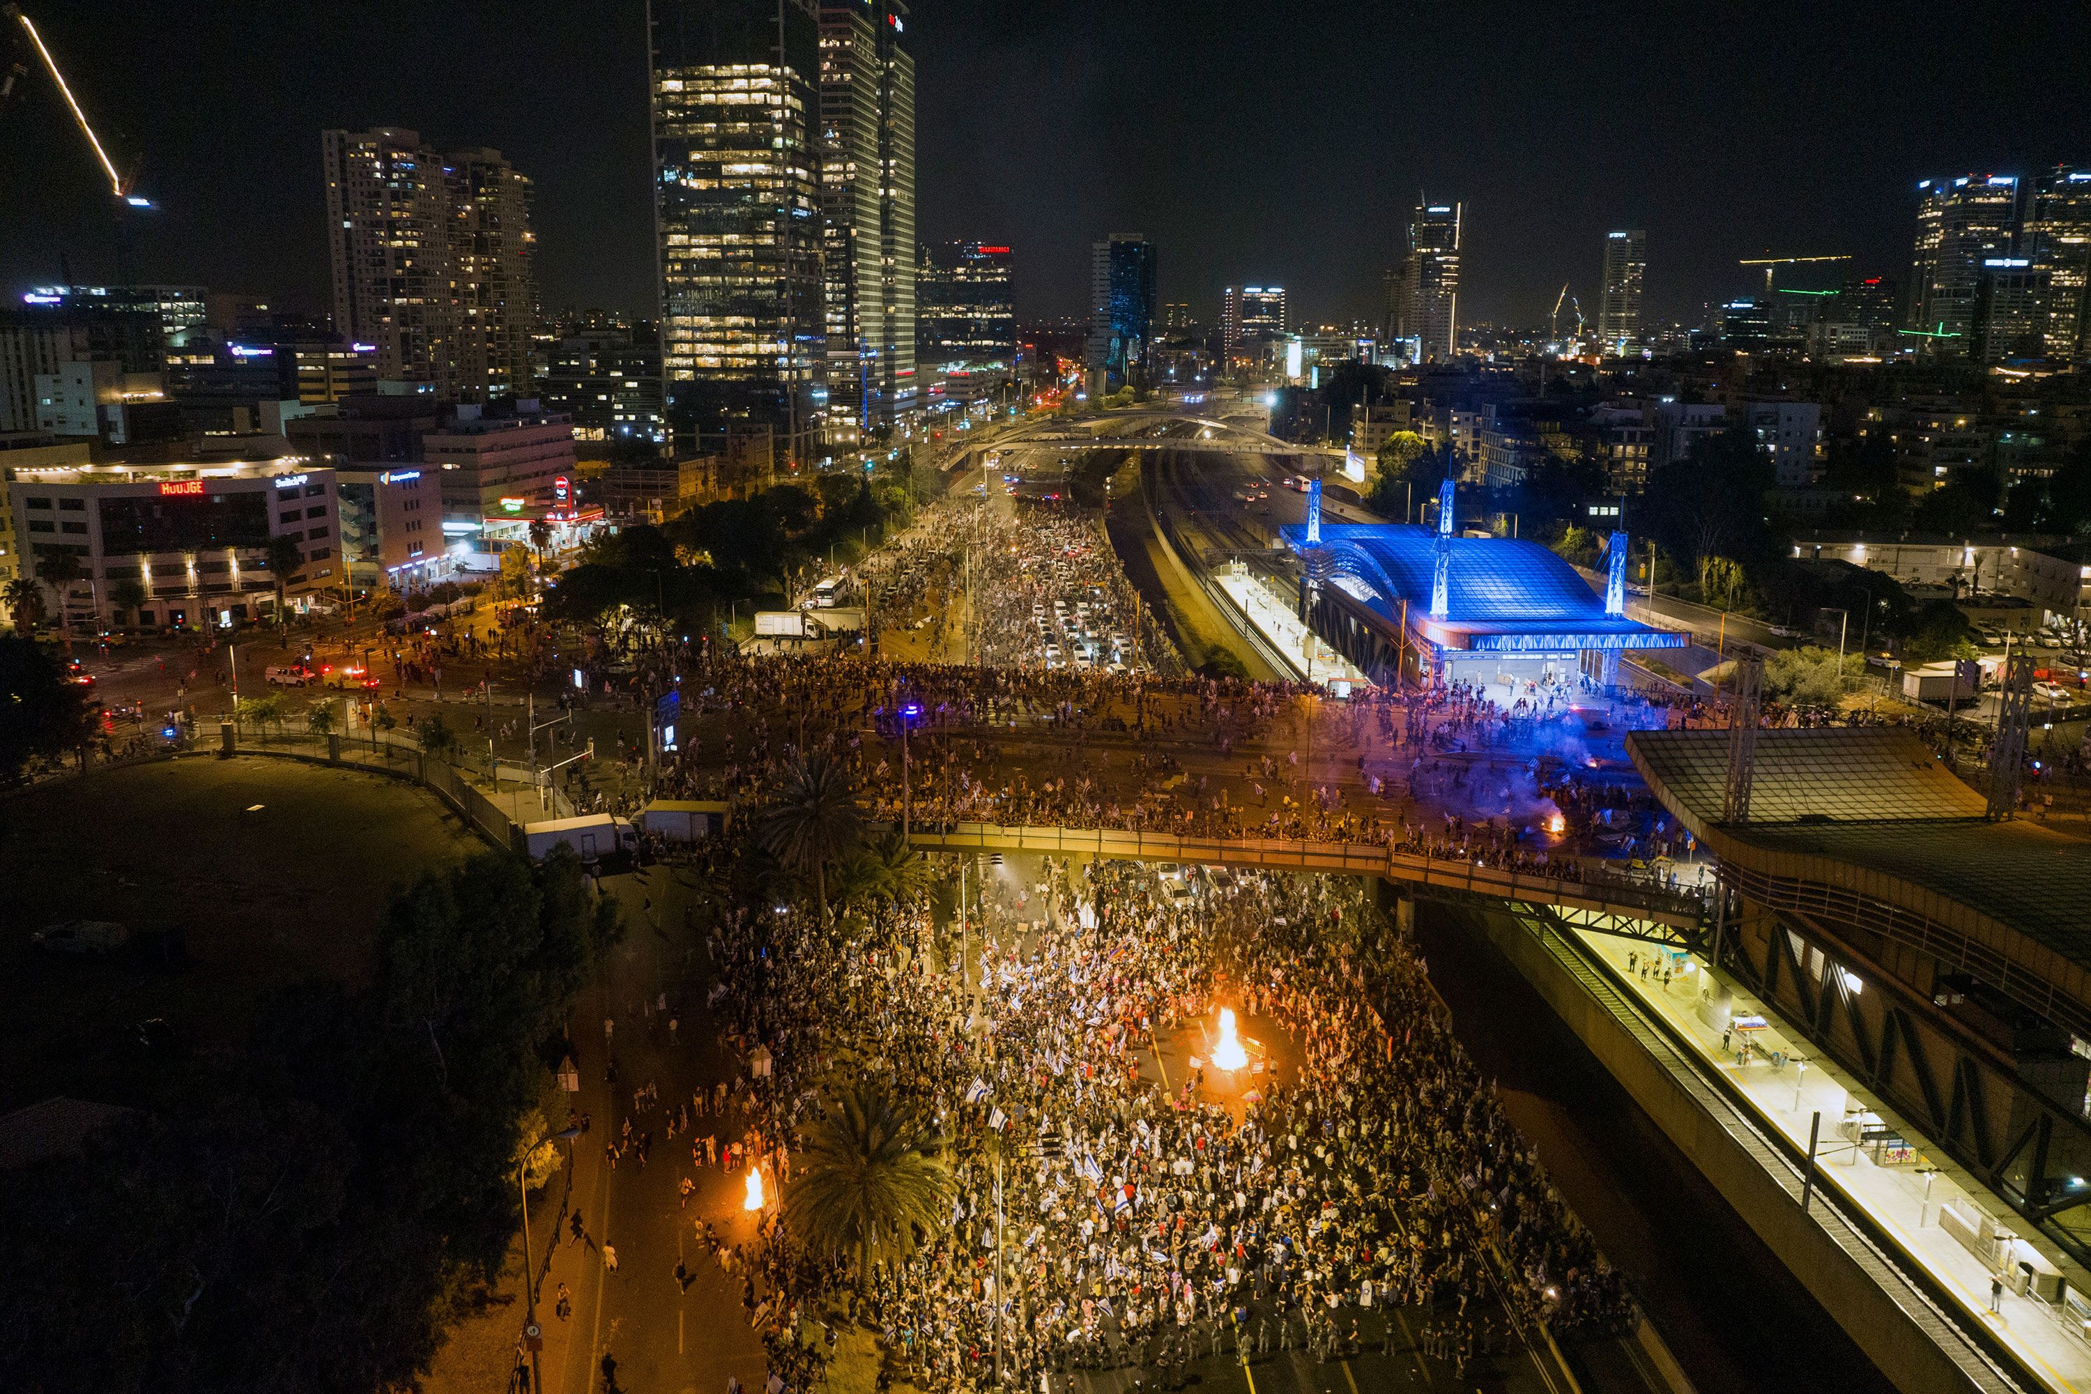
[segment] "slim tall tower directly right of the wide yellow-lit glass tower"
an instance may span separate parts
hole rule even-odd
[[[820,6],[828,439],[916,405],[914,54],[901,0]]]

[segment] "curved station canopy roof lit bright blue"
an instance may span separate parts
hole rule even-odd
[[[1307,529],[1282,529],[1307,548]],[[1322,550],[1345,594],[1441,648],[1476,652],[1572,652],[1583,648],[1683,648],[1690,635],[1606,614],[1604,596],[1575,566],[1535,541],[1447,537],[1451,552],[1445,617],[1430,614],[1439,535],[1409,522],[1324,522]]]

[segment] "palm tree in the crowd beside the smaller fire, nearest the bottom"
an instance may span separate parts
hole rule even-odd
[[[870,1083],[830,1099],[803,1139],[784,1221],[811,1250],[853,1252],[859,1292],[872,1262],[914,1252],[916,1225],[935,1233],[947,1223],[953,1185],[943,1139]]]

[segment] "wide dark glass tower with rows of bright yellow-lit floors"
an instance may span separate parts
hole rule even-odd
[[[803,460],[826,357],[820,25],[805,0],[652,0],[648,44],[669,416],[763,422]]]

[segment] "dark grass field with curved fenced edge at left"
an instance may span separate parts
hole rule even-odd
[[[362,984],[391,888],[481,849],[412,784],[280,759],[159,761],[0,798],[0,1112],[61,1093],[151,1108],[186,1062],[238,1043],[272,989]],[[180,930],[186,955],[33,949],[54,920]],[[176,1055],[132,1043],[146,1018],[167,1020]]]

